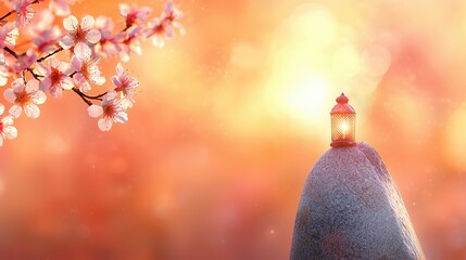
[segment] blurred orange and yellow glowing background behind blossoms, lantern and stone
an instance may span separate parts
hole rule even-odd
[[[131,2],[152,16],[164,4]],[[127,123],[101,132],[72,92],[15,121],[0,150],[1,259],[288,259],[342,91],[427,258],[466,259],[465,1],[176,3],[187,35],[124,64],[140,81]]]

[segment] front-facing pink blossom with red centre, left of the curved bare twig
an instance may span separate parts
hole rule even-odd
[[[48,65],[43,63],[37,64],[37,70],[43,78],[40,81],[40,89],[49,91],[53,98],[61,98],[63,89],[73,89],[73,80],[68,76],[71,67],[68,63],[50,58]]]

